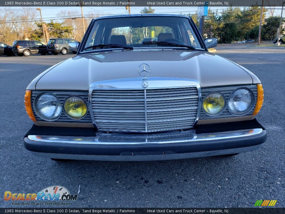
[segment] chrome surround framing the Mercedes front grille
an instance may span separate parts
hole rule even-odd
[[[92,122],[94,126],[100,130],[100,131],[114,131],[114,132],[137,132],[137,133],[144,133],[144,132],[159,132],[159,131],[169,131],[169,130],[179,130],[181,128],[171,128],[171,129],[161,129],[161,130],[147,130],[147,122],[146,124],[146,129],[145,131],[134,131],[134,130],[105,130],[105,129],[99,129],[98,126],[96,125],[95,117],[94,117],[94,112],[92,108],[92,93],[93,90],[145,90],[145,110],[146,110],[146,102],[147,101],[162,101],[164,99],[158,99],[158,100],[146,100],[146,90],[151,90],[151,89],[187,89],[187,88],[192,88],[196,87],[197,92],[198,92],[198,97],[188,97],[190,98],[198,98],[198,106],[197,106],[197,115],[196,119],[193,123],[193,126],[189,126],[187,128],[193,128],[199,119],[200,116],[200,111],[201,111],[201,103],[202,103],[202,93],[201,93],[201,87],[200,87],[200,82],[195,80],[195,79],[188,79],[188,78],[170,78],[170,77],[148,77],[148,83],[149,87],[148,88],[142,88],[141,87],[141,77],[134,77],[134,78],[121,78],[121,79],[112,79],[112,80],[104,80],[104,81],[97,81],[94,83],[90,84],[89,87],[89,95],[88,95],[88,100],[89,100],[89,112],[91,115]],[[156,86],[156,87],[151,87],[151,86]],[[174,98],[174,99],[165,99],[165,100],[179,100],[181,98]],[[184,98],[185,99],[185,98]],[[100,99],[101,100],[101,99]],[[98,100],[94,100],[98,101]],[[106,100],[102,100],[106,101]],[[110,100],[114,101],[114,100]],[[119,100],[118,100],[119,101]],[[122,101],[122,100],[120,100]],[[130,100],[125,100],[125,101],[130,101]],[[142,101],[142,99],[139,100],[133,100],[135,101]],[[148,113],[148,112],[146,112]],[[146,114],[145,113],[145,114]],[[104,122],[104,121],[100,121]],[[139,123],[139,122],[138,122]],[[184,128],[185,129],[185,128]]]

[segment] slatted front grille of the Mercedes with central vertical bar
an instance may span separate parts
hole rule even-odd
[[[199,94],[196,86],[169,89],[95,88],[90,102],[94,123],[99,130],[153,132],[193,127],[197,119]]]

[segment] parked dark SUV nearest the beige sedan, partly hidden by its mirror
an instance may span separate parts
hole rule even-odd
[[[70,42],[77,42],[77,41],[74,39],[70,39],[70,38],[52,38],[48,40],[47,54],[57,55],[59,52],[62,55],[67,54],[67,52],[72,52],[73,54],[76,54],[76,51],[70,50],[69,45],[68,45],[68,43]]]

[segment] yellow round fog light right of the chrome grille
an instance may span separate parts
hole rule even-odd
[[[208,94],[203,100],[203,109],[208,114],[218,114],[225,107],[225,98],[223,95],[213,92]]]

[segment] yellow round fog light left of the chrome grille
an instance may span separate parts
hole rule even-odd
[[[69,97],[64,102],[64,111],[71,119],[81,119],[87,114],[87,105],[79,97]]]

